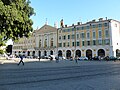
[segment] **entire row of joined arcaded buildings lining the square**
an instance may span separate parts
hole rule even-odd
[[[77,25],[56,28],[45,24],[34,30],[30,38],[14,43],[14,53],[26,56],[58,55],[66,58],[77,56],[120,56],[120,22],[113,19],[92,20]],[[56,25],[55,25],[56,26]]]

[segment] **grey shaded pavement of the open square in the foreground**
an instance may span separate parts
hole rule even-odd
[[[0,90],[120,90],[120,62],[0,64]]]

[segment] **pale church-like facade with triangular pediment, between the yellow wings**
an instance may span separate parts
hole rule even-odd
[[[49,56],[57,54],[57,28],[45,24],[36,30],[36,56]]]

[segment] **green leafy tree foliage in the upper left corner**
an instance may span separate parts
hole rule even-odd
[[[0,0],[0,46],[8,39],[28,37],[33,31],[32,15],[29,0]]]

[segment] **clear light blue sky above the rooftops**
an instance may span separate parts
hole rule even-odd
[[[31,6],[36,12],[32,16],[33,28],[42,27],[46,18],[48,24],[54,26],[54,22],[60,26],[60,20],[64,24],[72,25],[78,21],[85,23],[98,18],[108,17],[120,21],[120,0],[30,0]]]

